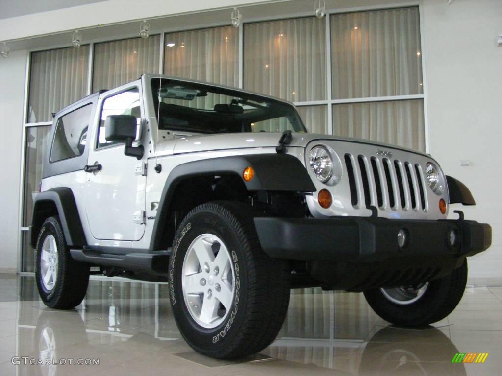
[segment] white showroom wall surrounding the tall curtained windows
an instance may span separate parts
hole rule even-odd
[[[97,3],[82,8],[84,13],[94,10],[93,7],[109,6],[115,0]],[[107,4],[110,3],[110,4]],[[130,2],[131,4],[136,2]],[[169,2],[152,2],[158,3]],[[191,2],[186,2],[191,3]],[[195,3],[195,2],[193,2]],[[209,4],[210,3],[210,4]],[[228,6],[236,2],[213,0],[204,3],[206,9]],[[239,2],[257,3],[257,2]],[[290,2],[289,12],[311,12],[313,2]],[[496,47],[496,35],[502,33],[502,2],[499,0],[456,0],[448,6],[446,0],[424,0],[423,2],[399,1],[326,1],[327,8],[347,9],[359,6],[421,5],[422,36],[424,38],[423,64],[425,73],[426,122],[428,122],[429,151],[441,163],[448,174],[464,181],[472,190],[478,205],[473,208],[460,207],[469,219],[486,221],[493,227],[493,246],[486,253],[476,256],[470,264],[471,281],[482,283],[482,278],[500,278],[502,270],[502,203],[496,199],[497,187],[501,178],[497,175],[498,166],[502,162],[502,153],[497,142],[502,139],[500,129],[501,117],[497,101],[502,98],[502,47]],[[139,4],[139,3],[138,3]],[[203,3],[199,3],[203,4]],[[184,5],[183,5],[184,6]],[[89,8],[86,8],[89,7]],[[261,7],[266,7],[261,6]],[[102,10],[102,8],[99,8]],[[159,8],[157,8],[159,9]],[[172,11],[163,7],[159,14]],[[179,6],[177,13],[195,11],[195,8]],[[143,11],[142,11],[143,12]],[[92,13],[92,12],[91,12]],[[46,17],[64,19],[61,24],[44,22],[32,23],[31,27],[21,33],[36,35],[56,32],[71,28],[85,27],[102,22],[119,22],[124,20],[149,17],[155,8],[145,7],[145,13],[137,13],[134,7],[121,7],[120,13],[107,15],[106,12],[94,12],[92,16],[82,18],[81,12],[75,9],[63,9],[48,12]],[[106,14],[109,14],[107,12]],[[258,12],[260,13],[260,12]],[[264,12],[274,16],[269,10]],[[23,18],[27,17],[27,18]],[[28,20],[35,20],[40,15],[22,16],[16,23],[28,25]],[[278,14],[277,18],[281,18]],[[0,35],[4,35],[5,25],[0,26]],[[83,21],[85,20],[85,21]],[[104,20],[104,21],[103,21]],[[204,20],[201,17],[201,20]],[[201,21],[205,24],[205,21]],[[38,25],[35,25],[38,24]],[[48,26],[49,25],[49,26]],[[51,26],[52,25],[52,26]],[[56,26],[57,25],[57,26]],[[56,30],[57,28],[60,28]],[[193,28],[194,25],[190,25]],[[24,33],[24,34],[22,34]],[[28,34],[27,34],[28,33]],[[31,33],[31,34],[30,34]],[[14,176],[5,174],[0,185],[0,272],[15,271],[19,257],[19,197],[22,117],[25,90],[25,69],[27,51],[11,52],[9,59],[0,59],[0,131],[4,136],[4,171],[15,171]],[[6,90],[7,89],[7,90]],[[460,160],[469,160],[469,166],[460,166]],[[456,209],[456,208],[455,208]],[[452,215],[452,218],[455,216]]]

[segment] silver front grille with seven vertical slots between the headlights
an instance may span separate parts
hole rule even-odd
[[[427,211],[427,196],[422,166],[410,161],[370,158],[363,154],[345,154],[354,208]]]

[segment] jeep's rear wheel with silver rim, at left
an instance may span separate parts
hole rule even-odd
[[[37,287],[46,306],[71,309],[82,302],[89,284],[89,265],[71,258],[58,217],[49,217],[42,225],[35,260]]]

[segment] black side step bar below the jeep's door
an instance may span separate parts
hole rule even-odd
[[[128,253],[116,255],[100,253],[89,249],[70,249],[73,260],[102,266],[113,266],[123,270],[167,274],[169,255],[152,253]]]

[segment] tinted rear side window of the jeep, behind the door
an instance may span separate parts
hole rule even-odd
[[[58,119],[51,149],[51,162],[83,154],[91,110],[92,105],[89,103]]]

